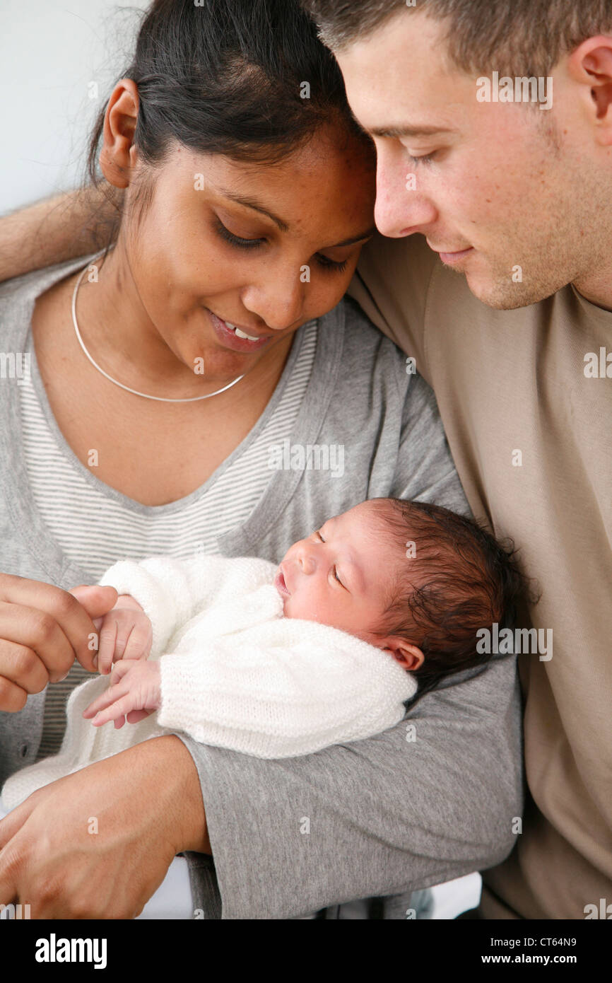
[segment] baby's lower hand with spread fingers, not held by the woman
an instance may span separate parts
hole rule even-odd
[[[83,710],[85,720],[93,717],[94,727],[108,721],[119,729],[126,723],[139,723],[161,705],[159,663],[121,662],[115,665],[111,685],[102,696]]]

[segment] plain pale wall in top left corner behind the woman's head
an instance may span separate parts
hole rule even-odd
[[[147,6],[0,0],[0,213],[83,182],[93,121],[130,62]]]

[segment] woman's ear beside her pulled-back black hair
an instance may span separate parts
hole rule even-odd
[[[132,79],[118,82],[104,116],[100,169],[115,188],[127,188],[136,165],[134,135],[139,116],[139,88]]]

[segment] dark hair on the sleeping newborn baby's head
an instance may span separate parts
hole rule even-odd
[[[518,610],[536,603],[511,540],[496,540],[473,519],[440,505],[374,498],[385,534],[406,556],[373,633],[397,635],[421,650],[419,695],[453,672],[491,658],[476,648],[481,629],[514,628]],[[480,636],[482,637],[482,636]],[[484,646],[480,646],[484,648]]]

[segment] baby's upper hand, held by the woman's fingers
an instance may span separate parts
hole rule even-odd
[[[103,617],[94,618],[98,631],[98,672],[107,675],[121,659],[148,659],[153,629],[138,601],[129,595],[118,598]]]

